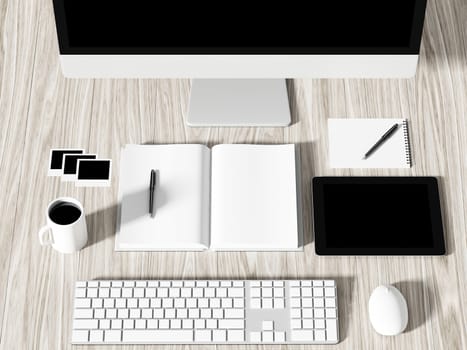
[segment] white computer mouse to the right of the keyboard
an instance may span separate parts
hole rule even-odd
[[[407,302],[396,287],[381,285],[371,293],[368,301],[370,322],[382,335],[397,335],[404,331],[409,320]]]

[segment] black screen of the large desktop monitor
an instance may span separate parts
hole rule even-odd
[[[418,53],[426,0],[54,0],[63,53]]]

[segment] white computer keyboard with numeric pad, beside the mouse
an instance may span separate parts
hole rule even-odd
[[[76,282],[73,344],[336,344],[333,280]]]

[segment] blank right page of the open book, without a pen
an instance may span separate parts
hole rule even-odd
[[[295,145],[212,148],[211,249],[301,249],[295,156]]]

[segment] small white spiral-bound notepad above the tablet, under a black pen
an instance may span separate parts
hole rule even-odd
[[[365,153],[381,136],[399,124],[397,131],[370,157]],[[328,120],[329,164],[331,168],[410,168],[409,129],[406,119]]]

